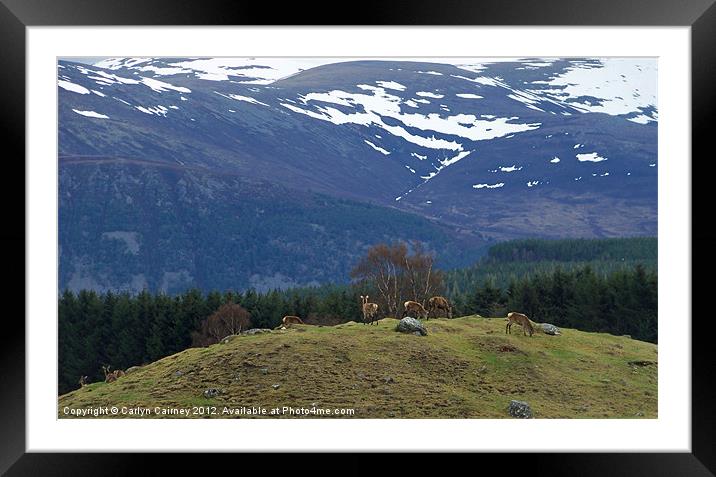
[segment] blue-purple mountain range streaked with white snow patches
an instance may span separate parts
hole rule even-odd
[[[655,59],[118,58],[61,61],[58,85],[68,183],[109,165],[130,180],[134,164],[368,202],[479,241],[656,233]]]

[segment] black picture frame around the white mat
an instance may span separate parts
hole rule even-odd
[[[716,110],[716,0],[490,0],[490,1],[412,1],[376,2],[365,0],[359,8],[327,8],[318,2],[282,3],[230,2],[203,0],[0,0],[0,97],[3,105],[2,131],[5,143],[5,186],[0,187],[4,220],[0,243],[5,255],[8,302],[25,290],[25,210],[16,206],[24,198],[25,177],[25,29],[30,26],[112,26],[112,25],[569,25],[569,26],[689,26],[691,27],[692,68],[692,302],[684,304],[684,314],[672,317],[691,321],[692,333],[692,453],[580,453],[483,455],[480,467],[509,462],[532,472],[552,475],[714,475],[716,472],[716,395],[710,380],[716,372],[711,358],[713,332],[706,313],[709,283],[706,277],[714,263],[716,233],[705,221],[697,225],[699,212],[710,209],[710,170],[707,156]],[[334,5],[335,7],[335,5]],[[339,12],[334,18],[319,20],[317,11]],[[350,13],[349,13],[350,12]],[[710,134],[711,133],[711,134]],[[8,146],[10,146],[8,148]],[[8,152],[12,151],[12,152]],[[713,154],[710,154],[713,155]],[[698,175],[693,174],[694,157],[699,156]],[[688,161],[689,158],[684,158]],[[699,181],[701,183],[699,183]],[[704,215],[708,217],[707,215]],[[11,220],[8,220],[11,219]],[[698,251],[698,255],[694,255]],[[21,263],[22,262],[22,263]],[[21,268],[22,267],[22,268]],[[22,274],[19,273],[23,270]],[[699,275],[703,280],[699,280]],[[22,277],[22,278],[21,278]],[[698,310],[698,313],[697,313]],[[146,469],[163,458],[164,471],[190,465],[186,458],[154,454],[139,457],[119,454],[40,454],[26,453],[25,432],[25,326],[24,302],[15,313],[5,313],[0,332],[0,472],[8,475],[124,475]],[[578,438],[578,436],[575,436]],[[506,445],[507,447],[507,445]],[[214,460],[212,467],[223,459]],[[295,457],[295,456],[294,456]],[[294,458],[292,457],[292,459]],[[370,469],[370,459],[356,456],[343,459],[345,471]],[[145,461],[137,467],[136,459]],[[401,465],[420,464],[423,458],[400,459]],[[272,462],[278,471],[290,463]],[[517,467],[515,467],[517,466]],[[407,470],[407,467],[404,469]]]

